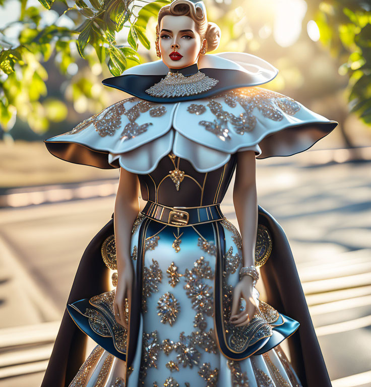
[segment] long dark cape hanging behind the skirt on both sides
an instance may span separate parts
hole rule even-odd
[[[273,216],[260,206],[258,222],[269,229],[273,243],[269,259],[260,269],[267,302],[300,322],[299,329],[287,339],[291,363],[303,387],[331,387],[286,235]],[[102,260],[101,245],[113,232],[111,219],[88,244],[67,303],[107,291],[108,269]],[[87,336],[65,310],[41,387],[68,387],[85,361],[86,340]]]

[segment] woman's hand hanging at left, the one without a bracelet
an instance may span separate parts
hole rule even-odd
[[[125,312],[125,299],[129,301],[129,314],[132,299],[132,286],[133,286],[133,267],[131,262],[127,262],[125,270],[117,278],[117,286],[113,300],[114,316],[119,325],[129,329],[128,321],[126,320]],[[129,316],[127,316],[129,317]]]

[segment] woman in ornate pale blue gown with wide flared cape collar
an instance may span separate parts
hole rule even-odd
[[[163,7],[162,60],[103,81],[134,97],[45,141],[56,157],[119,167],[120,177],[114,220],[82,257],[74,322],[66,313],[43,387],[331,386],[285,234],[257,204],[255,158],[304,151],[337,123],[256,87],[277,74],[266,61],[205,55],[219,38],[202,2]],[[219,207],[235,167],[241,234]],[[113,291],[107,268],[117,270]],[[98,344],[83,365],[77,326]]]

